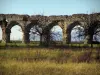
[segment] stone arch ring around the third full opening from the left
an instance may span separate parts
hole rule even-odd
[[[52,21],[51,23],[48,23],[48,25],[44,27],[43,38],[44,38],[45,42],[50,44],[51,29],[56,25],[60,26],[60,28],[62,29],[63,35],[64,34],[66,35],[66,33],[64,33],[64,29],[63,29],[64,28],[63,22],[64,22],[63,20],[55,20],[55,21]],[[66,42],[66,41],[64,41],[64,39],[63,39],[63,43],[64,42]]]

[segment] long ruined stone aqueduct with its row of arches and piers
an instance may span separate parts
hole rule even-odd
[[[85,43],[91,43],[94,30],[100,26],[100,13],[94,14],[73,14],[60,16],[42,16],[42,15],[18,15],[18,14],[0,14],[0,26],[2,28],[2,42],[10,42],[11,28],[19,25],[23,32],[23,43],[29,43],[29,31],[32,26],[38,25],[43,31],[40,38],[45,36],[47,42],[50,41],[50,29],[59,25],[63,32],[63,44],[70,43],[71,30],[76,25],[81,25],[85,29]],[[40,41],[42,41],[40,39]]]

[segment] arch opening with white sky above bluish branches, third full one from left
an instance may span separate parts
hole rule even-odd
[[[55,25],[50,29],[50,41],[51,42],[62,42],[63,32],[59,25]]]

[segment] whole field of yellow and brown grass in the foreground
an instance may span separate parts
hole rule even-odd
[[[0,50],[0,75],[100,75],[99,49]]]

